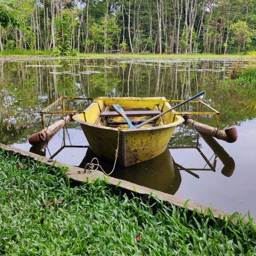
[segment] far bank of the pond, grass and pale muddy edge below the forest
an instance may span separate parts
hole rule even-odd
[[[104,54],[104,53],[79,53],[77,56],[53,56],[52,51],[5,51],[0,52],[0,60],[48,60],[70,58],[141,58],[141,59],[199,59],[199,60],[243,60],[250,55],[242,54]]]

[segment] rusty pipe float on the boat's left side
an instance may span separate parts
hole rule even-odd
[[[37,145],[41,142],[46,141],[50,136],[58,132],[58,130],[62,128],[66,124],[66,122],[68,122],[72,118],[72,116],[74,116],[74,113],[68,114],[67,116],[61,118],[54,124],[44,128],[40,132],[33,134],[32,136],[29,137],[28,142],[31,145]]]

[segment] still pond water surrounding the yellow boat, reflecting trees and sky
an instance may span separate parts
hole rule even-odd
[[[222,86],[219,81],[227,79],[234,65],[233,60],[0,60],[0,142],[84,167],[94,154],[75,122],[45,148],[28,144],[28,137],[41,129],[40,110],[60,96],[184,100],[204,90],[202,100],[221,113],[220,127],[236,126],[235,143],[204,138],[182,124],[163,154],[125,170],[117,166],[112,176],[227,212],[249,210],[256,215],[256,92]],[[78,101],[70,108],[84,109],[88,104]],[[193,108],[190,104],[181,110]],[[46,124],[58,118],[50,120],[49,115]],[[200,120],[216,124],[216,118]],[[112,163],[100,159],[100,164],[106,172],[112,170]]]

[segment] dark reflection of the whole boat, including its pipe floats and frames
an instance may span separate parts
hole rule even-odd
[[[102,166],[103,170],[106,173],[111,172],[113,168],[113,162],[109,162],[108,160],[105,160],[104,158],[94,154],[94,152],[92,152],[88,145],[72,145],[68,129],[62,129],[62,134],[62,144],[59,149],[49,149],[51,144],[50,140],[53,138],[52,136],[47,142],[42,142],[37,146],[32,146],[30,148],[30,152],[46,156],[46,151],[48,151],[48,154],[50,155],[49,158],[54,159],[65,148],[69,149],[67,154],[70,154],[72,150],[71,148],[87,148],[86,154],[82,159],[81,163],[79,164],[79,167],[84,168],[87,163],[91,162],[91,160],[96,157],[98,158],[99,164]],[[209,148],[211,148],[211,150],[213,151],[213,155],[210,159],[208,159],[201,150],[199,134],[208,144]],[[175,157],[173,158],[171,156],[170,149],[196,149],[204,160],[205,166],[203,168],[184,168],[183,163],[176,162]],[[221,173],[226,177],[232,176],[235,168],[233,158],[228,155],[224,148],[220,146],[220,144],[218,144],[218,142],[214,138],[206,134],[202,134],[198,131],[198,134],[196,136],[196,144],[194,146],[169,146],[162,154],[151,160],[134,164],[128,167],[116,166],[111,176],[174,195],[178,191],[178,188],[180,187],[180,184],[182,182],[182,171],[185,171],[191,174],[193,177],[199,179],[200,175],[196,174],[196,171],[216,172],[216,162],[218,158],[224,164]]]

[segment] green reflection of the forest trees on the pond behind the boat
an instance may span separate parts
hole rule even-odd
[[[24,142],[40,129],[40,110],[60,96],[186,99],[205,90],[206,102],[222,114],[222,125],[239,124],[256,117],[256,95],[255,90],[245,95],[216,86],[218,80],[228,76],[232,65],[232,60],[1,60],[1,117],[17,129],[26,126],[17,138]],[[191,110],[189,105],[182,106],[183,111],[188,108]]]

